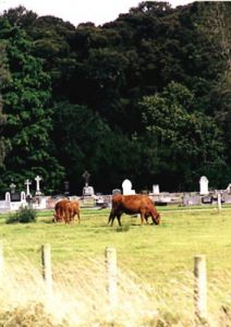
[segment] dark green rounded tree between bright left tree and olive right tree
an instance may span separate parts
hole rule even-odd
[[[59,102],[56,106],[53,138],[59,160],[68,172],[72,192],[81,192],[82,174],[92,174],[100,192],[120,187],[124,178],[137,182],[142,146],[120,132],[113,132],[100,116],[86,106]],[[131,155],[132,154],[132,155]]]

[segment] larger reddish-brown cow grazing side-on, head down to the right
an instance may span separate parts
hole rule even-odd
[[[127,215],[141,215],[142,223],[144,219],[148,223],[148,217],[150,216],[155,225],[159,225],[160,215],[157,213],[157,209],[153,201],[147,195],[114,195],[112,197],[112,208],[109,216],[108,223],[113,225],[113,220],[117,217],[119,225],[121,226],[120,218],[122,214]]]

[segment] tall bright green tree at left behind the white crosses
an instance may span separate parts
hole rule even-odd
[[[32,46],[25,33],[4,19],[0,24],[0,39],[5,44],[11,71],[10,82],[2,90],[8,114],[3,134],[11,141],[2,181],[9,185],[14,180],[23,187],[25,179],[40,174],[47,189],[56,190],[64,173],[52,155],[50,142],[49,75],[42,71],[41,61],[31,55]]]

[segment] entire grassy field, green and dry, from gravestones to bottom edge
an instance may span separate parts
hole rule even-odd
[[[161,214],[158,227],[124,215],[121,230],[108,227],[104,210],[83,210],[81,223],[70,226],[52,223],[51,211],[27,225],[5,225],[1,216],[0,326],[192,327],[197,254],[207,257],[209,326],[231,326],[230,209]],[[41,277],[45,243],[52,252],[52,298]],[[117,249],[119,266],[112,311],[102,255],[108,245]]]

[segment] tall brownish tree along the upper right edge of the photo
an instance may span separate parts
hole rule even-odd
[[[231,3],[199,4],[202,10],[198,31],[210,47],[219,64],[216,84],[210,89],[214,114],[224,131],[228,162],[231,161]],[[215,62],[215,60],[214,60]]]

